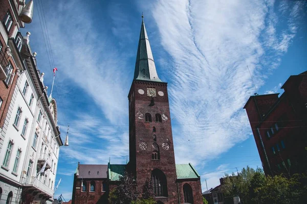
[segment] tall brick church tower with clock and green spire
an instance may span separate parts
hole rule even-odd
[[[157,74],[142,16],[134,80],[129,100],[129,164],[142,192],[152,179],[162,203],[178,203],[178,186],[167,83]]]

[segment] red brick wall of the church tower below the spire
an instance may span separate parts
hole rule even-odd
[[[149,106],[150,98],[147,96],[147,87],[156,88],[156,97],[154,99],[155,105]],[[145,93],[143,95],[138,93],[139,89],[143,89]],[[164,96],[159,96],[158,91],[163,91]],[[170,123],[170,112],[168,104],[167,84],[166,83],[151,83],[134,81],[131,85],[129,100],[131,94],[134,92],[134,99],[131,100],[130,105],[130,161],[133,171],[136,171],[136,177],[138,181],[138,189],[143,189],[143,185],[147,178],[151,176],[153,169],[160,169],[164,172],[167,180],[168,198],[161,199],[164,203],[178,203],[177,185],[176,185],[176,166],[174,159],[173,139]],[[145,122],[145,117],[139,119],[136,117],[138,112],[150,113],[152,122]],[[155,121],[155,115],[166,114],[168,120],[162,120],[162,122]],[[156,132],[152,132],[152,127],[156,127]],[[135,131],[134,131],[135,130]],[[156,135],[157,141],[153,141],[153,135]],[[148,147],[146,150],[140,148],[140,142],[146,142]],[[152,144],[156,142],[159,145],[160,160],[152,160],[151,154],[154,150]],[[162,144],[168,142],[170,148],[164,150]],[[134,159],[136,158],[136,159]]]

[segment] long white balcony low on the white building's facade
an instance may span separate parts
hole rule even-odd
[[[27,187],[30,193],[33,193],[33,195],[39,194],[39,197],[43,199],[52,197],[54,193],[51,188],[43,184],[35,176],[24,177],[24,186]]]

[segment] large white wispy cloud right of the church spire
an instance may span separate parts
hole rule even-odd
[[[172,117],[183,124],[173,133],[177,162],[203,165],[248,138],[250,127],[243,123],[248,119],[242,108],[254,90],[246,66],[256,86],[264,85],[295,36],[295,25],[276,31],[274,4],[165,0],[152,4],[159,41],[173,60],[160,75],[169,82]],[[297,12],[295,4],[290,4],[289,12]]]

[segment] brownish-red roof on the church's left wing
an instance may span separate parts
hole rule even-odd
[[[79,178],[82,179],[106,179],[107,178],[106,164],[80,164]]]

